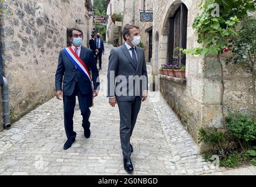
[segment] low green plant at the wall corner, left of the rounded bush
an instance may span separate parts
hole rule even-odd
[[[213,146],[213,151],[217,148],[219,154],[224,155],[222,143],[225,140],[225,134],[215,127],[203,127],[198,133],[198,143],[210,144]]]

